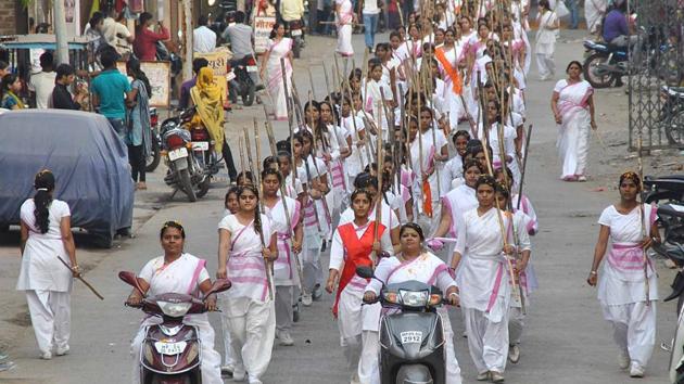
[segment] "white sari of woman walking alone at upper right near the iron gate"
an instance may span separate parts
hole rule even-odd
[[[554,92],[558,93],[558,113],[562,120],[558,126],[556,143],[562,166],[560,178],[574,179],[586,171],[592,125],[587,101],[594,89],[586,80],[572,85],[568,80],[560,80]]]

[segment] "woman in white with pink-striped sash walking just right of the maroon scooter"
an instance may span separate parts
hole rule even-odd
[[[219,279],[229,279],[228,307],[224,316],[230,324],[235,360],[233,380],[262,383],[270,362],[276,333],[276,313],[268,285],[266,263],[278,257],[277,236],[266,215],[257,209],[258,194],[253,185],[240,187],[239,209],[218,223]]]

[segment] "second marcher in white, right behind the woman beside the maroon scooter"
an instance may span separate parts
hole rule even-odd
[[[274,261],[274,279],[276,284],[276,331],[280,345],[291,346],[294,341],[290,335],[292,328],[294,291],[299,284],[299,272],[294,260],[302,251],[304,232],[301,225],[300,202],[278,195],[282,175],[274,168],[264,168],[262,172],[262,190],[264,191],[264,214],[271,221],[278,235],[278,255]],[[287,210],[286,210],[287,204]],[[288,219],[289,217],[289,219]],[[288,228],[288,223],[290,228]],[[294,238],[292,236],[294,234]]]

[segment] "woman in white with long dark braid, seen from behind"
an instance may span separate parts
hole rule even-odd
[[[34,181],[36,194],[22,204],[22,270],[17,291],[26,291],[30,322],[40,358],[68,353],[72,278],[80,270],[72,235],[68,205],[53,199],[54,175],[41,170]],[[72,266],[69,271],[62,261]]]

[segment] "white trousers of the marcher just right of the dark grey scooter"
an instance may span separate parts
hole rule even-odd
[[[495,371],[503,373],[508,358],[508,315],[499,322],[492,322],[486,313],[463,308],[468,333],[468,349],[478,373]]]

